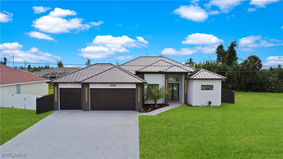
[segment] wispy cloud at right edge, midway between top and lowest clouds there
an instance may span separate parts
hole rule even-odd
[[[246,46],[248,48],[258,48],[258,47],[271,47],[283,45],[282,40],[271,39],[264,40],[261,35],[252,35],[245,38],[239,39],[239,46]]]

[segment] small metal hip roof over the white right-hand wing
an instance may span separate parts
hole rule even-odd
[[[187,78],[189,79],[219,79],[219,80],[227,79],[224,76],[220,76],[216,73],[207,71],[205,69],[196,69],[194,70],[194,72],[190,73]]]

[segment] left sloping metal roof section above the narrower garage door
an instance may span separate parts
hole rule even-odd
[[[112,67],[114,67],[114,65],[111,63],[96,63],[80,70],[68,73],[64,76],[55,78],[48,83],[76,83],[77,81],[89,78]]]

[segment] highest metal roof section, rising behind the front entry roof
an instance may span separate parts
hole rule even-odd
[[[188,70],[188,72],[193,72],[195,70],[195,68],[192,68],[190,66],[184,65],[182,63],[176,62],[174,60],[168,59],[167,57],[162,57],[162,56],[158,56],[158,57],[138,57],[136,59],[133,59],[131,61],[128,61],[127,63],[123,63],[122,65],[120,65],[121,68],[124,68],[125,70],[130,71],[131,73],[135,74],[135,72],[137,70],[140,70],[141,68],[145,68],[145,66],[151,65],[153,63],[156,63],[157,61],[164,61],[163,63],[159,63],[160,65],[156,65],[156,66],[152,66],[147,68],[149,70],[164,70],[164,66],[172,66],[172,65],[176,65],[179,66],[185,70]],[[167,63],[165,63],[167,62]],[[169,65],[169,64],[171,65]],[[155,68],[155,69],[153,69]],[[162,69],[163,68],[163,69]],[[173,69],[173,68],[172,68]],[[149,72],[149,71],[148,71]],[[156,72],[156,71],[152,71],[152,72]]]

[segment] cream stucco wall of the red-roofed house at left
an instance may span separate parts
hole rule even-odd
[[[48,94],[48,84],[46,81],[24,83],[21,85],[21,94],[28,94],[34,96],[44,96]],[[0,87],[1,93],[17,93],[17,85],[5,85]]]

